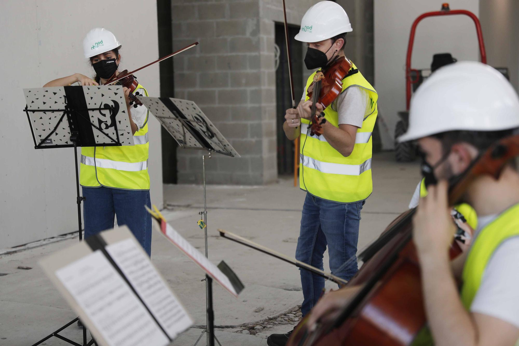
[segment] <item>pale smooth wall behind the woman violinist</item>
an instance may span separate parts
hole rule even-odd
[[[134,9],[139,8],[138,15]],[[112,19],[107,20],[110,17]],[[141,26],[128,18],[138,18]],[[73,149],[35,150],[25,113],[23,88],[79,72],[93,75],[83,57],[83,38],[105,26],[122,43],[122,68],[157,59],[157,10],[154,2],[92,0],[4,0],[0,2],[2,179],[0,248],[77,230]],[[138,73],[151,96],[159,95],[158,64]],[[162,205],[160,125],[149,121],[149,173],[152,202]]]

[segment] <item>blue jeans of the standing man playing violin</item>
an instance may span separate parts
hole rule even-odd
[[[307,193],[295,258],[322,270],[328,245],[332,274],[350,280],[358,271],[357,241],[364,203],[336,203]],[[342,268],[346,262],[348,265]],[[301,312],[305,316],[321,297],[324,278],[305,269],[299,271],[304,297]]]

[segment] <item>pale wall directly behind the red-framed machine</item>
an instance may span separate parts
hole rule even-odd
[[[451,9],[479,14],[479,0],[450,2]],[[405,55],[413,21],[424,12],[440,10],[430,0],[375,0],[375,87],[378,91],[377,122],[385,149],[393,148],[398,112],[405,110]],[[488,35],[487,35],[488,37]],[[458,60],[479,60],[474,23],[467,16],[427,18],[418,24],[412,68],[430,68],[432,56],[450,52]],[[381,128],[381,132],[384,131]]]

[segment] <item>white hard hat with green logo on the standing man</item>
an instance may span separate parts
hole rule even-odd
[[[320,42],[338,34],[353,31],[344,9],[333,1],[321,1],[306,11],[301,30],[295,39],[301,42]]]

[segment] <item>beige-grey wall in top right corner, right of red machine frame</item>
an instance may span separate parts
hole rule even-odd
[[[518,18],[517,0],[480,0],[487,63],[495,67],[508,67],[510,82],[515,90],[519,90]]]

